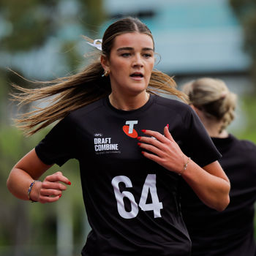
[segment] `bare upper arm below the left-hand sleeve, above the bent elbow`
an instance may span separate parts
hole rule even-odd
[[[26,173],[29,173],[32,178],[38,179],[51,166],[52,165],[45,165],[45,163],[39,159],[35,149],[33,148],[31,151],[29,151],[28,154],[26,154],[22,159],[20,159],[20,161],[17,162],[12,170],[24,170]]]

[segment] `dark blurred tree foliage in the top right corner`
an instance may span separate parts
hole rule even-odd
[[[256,87],[256,0],[230,0],[244,28],[244,49],[252,58],[252,78]]]

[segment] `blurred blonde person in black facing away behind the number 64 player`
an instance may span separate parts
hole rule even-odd
[[[217,212],[203,204],[192,189],[181,193],[184,222],[193,256],[255,255],[256,146],[227,132],[236,109],[236,94],[223,80],[199,78],[184,84],[189,105],[203,122],[230,179],[230,204]]]

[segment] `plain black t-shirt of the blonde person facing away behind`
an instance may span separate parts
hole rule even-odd
[[[222,154],[219,162],[230,179],[230,204],[218,212],[201,203],[188,186],[183,190],[182,211],[192,255],[255,255],[256,146],[233,135],[212,140]]]

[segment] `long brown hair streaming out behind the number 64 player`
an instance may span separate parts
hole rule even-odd
[[[148,34],[154,42],[151,31],[144,23],[137,18],[123,18],[106,29],[102,38],[102,53],[100,54],[109,58],[114,39],[120,34],[135,31]],[[18,93],[11,94],[12,99],[17,100],[20,106],[39,99],[50,99],[50,104],[44,108],[21,113],[16,119],[17,126],[23,129],[27,135],[33,135],[54,121],[61,120],[72,110],[107,97],[111,93],[110,78],[102,77],[104,69],[99,61],[99,56],[75,75],[42,83],[34,82],[36,86],[41,85],[39,88],[25,89],[12,84],[18,90]],[[187,101],[187,96],[176,89],[173,78],[158,70],[152,71],[147,91],[151,94],[160,92],[176,95],[184,102]]]

